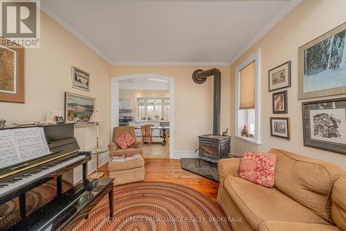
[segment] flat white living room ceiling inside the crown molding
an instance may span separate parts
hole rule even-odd
[[[113,65],[229,65],[301,0],[41,0]]]

